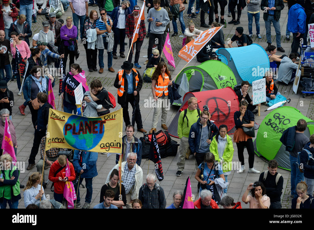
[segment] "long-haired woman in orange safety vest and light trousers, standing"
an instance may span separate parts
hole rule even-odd
[[[167,120],[167,107],[168,103],[168,85],[172,85],[171,74],[167,68],[165,62],[160,62],[152,76],[152,93],[154,96],[154,115],[152,122],[152,129],[149,133],[156,132],[158,117],[161,113],[161,127],[165,130],[168,129],[166,125]]]

